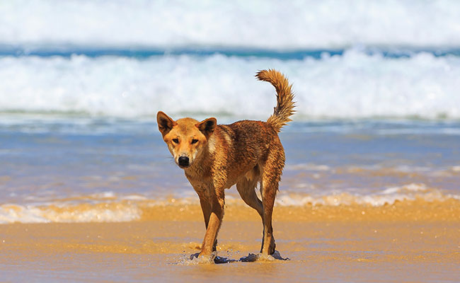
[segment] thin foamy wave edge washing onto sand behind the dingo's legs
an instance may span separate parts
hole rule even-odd
[[[177,206],[182,211],[184,206],[199,205],[197,197],[170,197],[163,200],[151,200],[142,195],[110,194],[111,200],[104,195],[96,200],[96,195],[79,197],[79,201],[55,201],[42,204],[0,204],[0,224],[10,223],[80,223],[80,222],[118,222],[142,219],[144,210],[156,209],[168,205]],[[89,201],[88,201],[89,200]],[[460,200],[460,195],[443,193],[424,184],[408,184],[390,187],[381,192],[367,195],[352,192],[330,192],[327,195],[313,195],[282,191],[277,195],[276,204],[280,206],[302,207],[364,205],[382,207],[386,204],[422,200],[424,202],[443,202]],[[244,205],[239,197],[226,197],[229,206]],[[414,204],[418,205],[418,204]]]

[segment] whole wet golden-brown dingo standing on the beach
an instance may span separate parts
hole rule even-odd
[[[200,197],[206,233],[199,257],[212,259],[214,255],[224,216],[224,190],[232,185],[263,221],[260,253],[275,252],[272,211],[284,167],[284,149],[277,133],[294,113],[294,96],[280,72],[263,70],[256,77],[272,83],[277,91],[277,106],[267,122],[217,125],[214,117],[202,122],[192,118],[174,121],[161,111],[157,114],[169,151]],[[262,200],[255,193],[258,183]]]

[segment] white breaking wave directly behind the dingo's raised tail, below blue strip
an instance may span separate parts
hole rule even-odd
[[[140,117],[157,110],[266,119],[274,89],[254,79],[280,69],[294,83],[297,115],[460,117],[460,57],[388,58],[348,50],[322,59],[74,56],[0,58],[0,111]],[[184,103],[186,101],[186,103]]]

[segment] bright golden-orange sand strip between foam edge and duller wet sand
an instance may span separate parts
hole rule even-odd
[[[164,204],[142,207],[140,221],[148,220],[202,221],[199,204]],[[260,217],[242,200],[234,199],[226,203],[224,221],[242,219],[260,221]],[[427,201],[396,201],[393,204],[372,206],[369,204],[305,204],[275,205],[273,221],[321,222],[321,221],[446,221],[460,222],[460,200],[447,199]]]

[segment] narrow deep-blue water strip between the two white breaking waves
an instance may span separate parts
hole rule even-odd
[[[460,50],[452,47],[406,47],[406,48],[367,48],[360,47],[360,50],[366,54],[381,54],[383,57],[388,58],[409,58],[415,54],[426,53],[432,54],[435,57],[445,56],[459,56]],[[221,54],[226,57],[259,57],[271,58],[280,60],[303,60],[306,58],[321,59],[322,57],[342,56],[346,49],[307,49],[307,50],[269,50],[269,49],[256,49],[248,47],[182,47],[182,48],[147,48],[147,47],[62,47],[59,49],[52,47],[33,47],[23,48],[21,46],[0,45],[0,56],[8,57],[67,57],[70,58],[75,55],[83,55],[86,57],[134,57],[137,59],[147,59],[149,57],[157,56],[195,56],[195,57],[208,57],[214,54]]]

